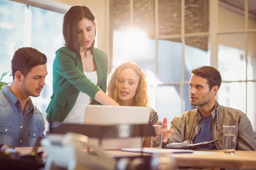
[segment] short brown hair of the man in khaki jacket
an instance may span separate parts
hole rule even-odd
[[[221,74],[220,72],[211,66],[201,66],[190,71],[191,75],[200,76],[204,79],[207,79],[209,89],[212,90],[212,87],[217,85],[218,88],[221,87]]]

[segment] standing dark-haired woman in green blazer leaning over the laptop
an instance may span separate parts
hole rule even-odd
[[[53,62],[48,122],[83,123],[88,104],[118,105],[107,96],[108,54],[94,47],[96,22],[86,6],[73,6],[64,16],[65,46]],[[47,125],[49,132],[49,123]]]

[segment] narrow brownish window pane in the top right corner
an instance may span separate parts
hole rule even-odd
[[[248,0],[248,29],[256,29],[256,0]]]

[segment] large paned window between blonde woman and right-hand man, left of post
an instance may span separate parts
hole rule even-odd
[[[208,11],[205,0],[113,0],[113,66],[132,61],[142,68],[160,120],[194,108],[189,71],[210,64]]]

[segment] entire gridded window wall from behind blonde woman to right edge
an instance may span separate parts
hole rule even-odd
[[[202,65],[218,68],[222,84],[216,99],[246,113],[256,129],[256,2],[218,2],[113,0],[113,66],[133,61],[143,69],[151,107],[168,123],[194,108],[189,102],[189,71]],[[128,36],[124,50],[119,42],[130,35],[129,29],[140,34]],[[209,35],[216,39],[209,40]]]

